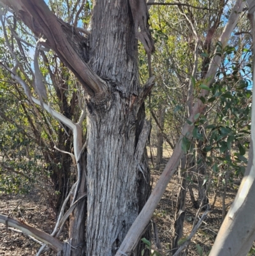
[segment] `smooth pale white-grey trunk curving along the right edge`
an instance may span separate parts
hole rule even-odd
[[[252,38],[255,41],[255,1],[247,0]],[[254,43],[253,43],[254,44]],[[253,53],[255,47],[253,46]],[[254,56],[253,56],[254,59]],[[253,85],[255,65],[253,60]],[[252,94],[255,95],[253,86]],[[252,97],[251,147],[249,162],[237,196],[221,225],[210,256],[245,256],[255,240],[255,98]]]

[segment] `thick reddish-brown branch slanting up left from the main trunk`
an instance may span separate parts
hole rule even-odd
[[[58,19],[43,0],[1,0],[0,3],[14,10],[36,36],[41,34],[47,38],[45,46],[57,53],[89,95],[101,95],[106,91],[106,83],[92,71],[79,53],[85,38],[75,27]]]

